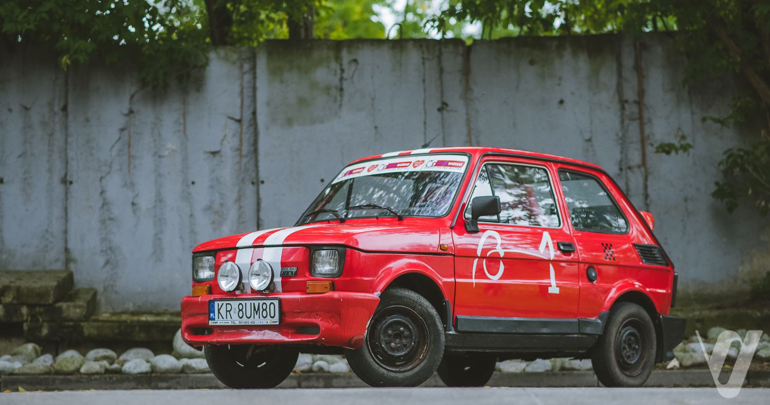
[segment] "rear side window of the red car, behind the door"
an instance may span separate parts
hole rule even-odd
[[[559,170],[561,189],[575,229],[626,233],[628,222],[599,179],[581,172]]]

